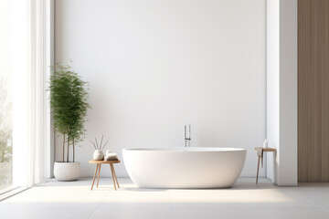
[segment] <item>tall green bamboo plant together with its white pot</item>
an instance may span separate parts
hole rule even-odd
[[[69,66],[56,64],[50,78],[50,108],[54,128],[63,138],[61,162],[55,162],[58,181],[73,181],[80,177],[80,162],[75,161],[75,148],[84,138],[88,104],[88,84]],[[69,160],[69,151],[72,151]],[[66,153],[66,155],[65,155]]]

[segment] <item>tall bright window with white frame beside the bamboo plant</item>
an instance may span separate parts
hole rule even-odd
[[[0,1],[0,199],[51,175],[53,0]],[[2,190],[2,191],[1,191]]]

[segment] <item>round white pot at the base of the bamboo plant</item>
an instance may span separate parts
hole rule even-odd
[[[58,181],[74,181],[80,177],[80,162],[55,162],[54,176]]]

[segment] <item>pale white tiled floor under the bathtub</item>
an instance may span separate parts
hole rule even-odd
[[[239,179],[234,188],[156,190],[137,188],[120,178],[114,191],[110,178],[50,181],[0,203],[0,218],[329,218],[329,183],[276,187],[265,179]]]

